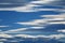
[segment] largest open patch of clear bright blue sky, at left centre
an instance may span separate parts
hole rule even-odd
[[[0,19],[2,26],[10,26],[10,27],[4,27],[2,30],[6,29],[16,29],[21,27],[25,27],[18,24],[14,24],[17,22],[29,22],[32,19],[41,19],[40,15],[47,15],[47,14],[58,14],[58,12],[53,12],[53,11],[44,11],[44,12],[34,12],[34,13],[20,13],[20,12],[14,12],[14,11],[0,11]]]

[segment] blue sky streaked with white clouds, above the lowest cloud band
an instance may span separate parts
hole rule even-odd
[[[65,37],[65,0],[1,0],[0,33]],[[55,37],[55,38],[56,38]]]

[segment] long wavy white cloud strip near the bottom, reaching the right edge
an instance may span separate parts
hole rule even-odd
[[[16,34],[14,37],[22,37],[22,38],[49,38],[49,39],[61,39],[65,38],[65,34],[50,34],[50,35],[29,35],[29,34]]]

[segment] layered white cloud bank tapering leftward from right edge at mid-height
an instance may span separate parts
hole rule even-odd
[[[25,26],[48,26],[54,24],[65,24],[65,13],[58,15],[41,15],[43,17],[41,19],[34,19],[29,22],[18,22],[16,24],[25,25]]]

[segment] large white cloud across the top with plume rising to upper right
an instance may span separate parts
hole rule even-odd
[[[25,4],[24,6],[0,9],[0,11],[15,11],[15,12],[60,11],[58,9],[37,9],[38,6],[43,6],[43,5],[39,5],[39,4],[50,3],[52,1],[55,1],[55,0],[30,1],[29,3]],[[4,3],[1,3],[1,4],[4,4]],[[5,3],[5,4],[11,4],[11,3]]]

